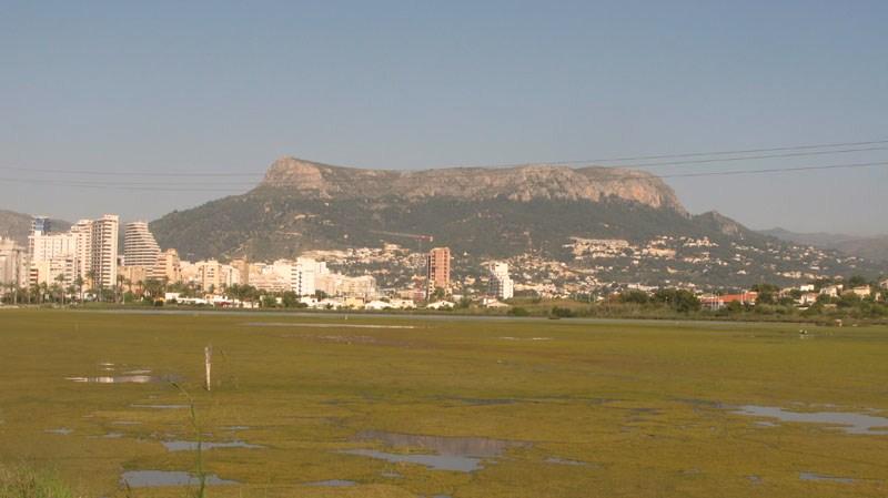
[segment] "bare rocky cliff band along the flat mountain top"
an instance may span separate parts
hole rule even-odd
[[[274,162],[261,187],[281,189],[307,199],[383,199],[417,201],[452,197],[464,201],[506,199],[591,201],[619,199],[685,213],[673,190],[645,172],[526,165],[506,169],[451,167],[425,171],[360,170],[295,157]]]

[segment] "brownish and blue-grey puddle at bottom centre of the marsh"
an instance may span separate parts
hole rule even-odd
[[[381,441],[398,449],[421,449],[425,454],[389,453],[376,449],[347,449],[342,453],[377,458],[392,463],[408,463],[433,470],[472,472],[482,468],[485,459],[501,456],[506,449],[529,444],[487,439],[483,437],[418,436],[411,434],[365,431],[356,437],[363,441]]]

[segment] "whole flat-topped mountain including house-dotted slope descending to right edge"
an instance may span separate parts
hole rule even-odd
[[[284,157],[253,190],[172,212],[151,230],[161,246],[192,261],[270,261],[396,243],[414,251],[450,246],[463,267],[533,257],[576,268],[576,278],[653,284],[751,285],[882,271],[716,212],[690,215],[660,179],[629,169],[391,171]],[[599,240],[624,245],[598,250]]]

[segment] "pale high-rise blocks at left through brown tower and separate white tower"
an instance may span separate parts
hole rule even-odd
[[[326,262],[310,255],[274,262],[184,261],[173,248],[161,250],[145,222],[125,224],[120,253],[119,232],[120,218],[112,214],[81,220],[61,232],[52,230],[48,217],[37,216],[28,247],[0,240],[0,284],[4,289],[58,285],[61,289],[72,288],[81,294],[87,289],[94,295],[104,289],[143,294],[151,292],[152,283],[163,286],[182,283],[201,291],[203,297],[196,299],[208,303],[230,302],[228,291],[251,286],[266,293],[292,292],[314,307],[406,308],[416,301],[431,302],[433,307],[452,305],[446,301],[452,294],[453,261],[447,247],[435,247],[425,254],[424,275],[416,275],[406,288],[383,291],[372,274],[334,272]],[[506,263],[490,265],[490,282],[491,298],[513,296]],[[179,294],[165,297],[175,298]]]

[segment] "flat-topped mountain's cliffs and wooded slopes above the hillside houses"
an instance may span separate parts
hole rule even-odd
[[[151,224],[186,257],[272,258],[313,248],[410,244],[432,235],[457,251],[558,250],[569,234],[648,236],[692,218],[673,190],[637,171],[528,165],[390,171],[284,157],[252,191]]]

